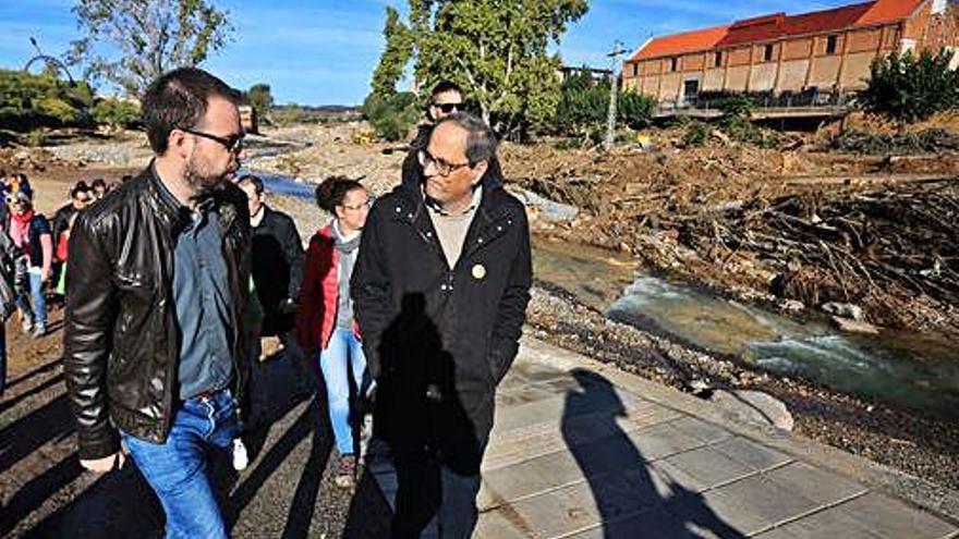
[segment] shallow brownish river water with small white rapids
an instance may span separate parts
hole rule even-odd
[[[258,174],[268,191],[313,198],[314,187]],[[612,320],[736,355],[770,372],[801,377],[946,420],[959,420],[959,347],[928,336],[845,334],[723,299],[681,282],[636,274],[629,258],[583,246],[535,242],[537,279]]]

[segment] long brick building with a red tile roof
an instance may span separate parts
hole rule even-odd
[[[874,0],[651,39],[624,62],[623,85],[664,102],[703,91],[843,93],[866,85],[876,58],[942,48],[959,50],[956,0]]]

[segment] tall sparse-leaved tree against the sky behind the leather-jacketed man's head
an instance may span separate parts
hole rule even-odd
[[[133,96],[171,69],[198,65],[232,33],[228,12],[206,0],[78,0],[73,12],[82,34],[68,60]]]

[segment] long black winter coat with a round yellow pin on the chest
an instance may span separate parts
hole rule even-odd
[[[379,387],[376,433],[449,460],[488,436],[496,385],[517,355],[532,282],[523,205],[487,171],[449,268],[420,181],[406,179],[376,201],[362,245],[351,284]]]

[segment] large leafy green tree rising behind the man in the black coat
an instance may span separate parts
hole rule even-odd
[[[388,58],[374,90],[414,59],[421,87],[456,81],[500,133],[546,125],[559,105],[561,65],[548,47],[587,10],[586,0],[410,0],[408,24],[387,12]]]

